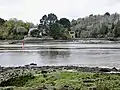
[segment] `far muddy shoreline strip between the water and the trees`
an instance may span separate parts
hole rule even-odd
[[[43,42],[74,42],[81,44],[110,44],[120,43],[120,38],[106,39],[106,38],[75,38],[68,40],[54,40],[52,38],[25,38],[23,40],[0,40],[0,45],[4,44],[17,44],[17,43],[43,43]]]

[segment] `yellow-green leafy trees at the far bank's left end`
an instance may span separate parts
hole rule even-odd
[[[34,24],[16,18],[11,18],[8,21],[0,19],[0,23],[2,23],[0,25],[0,39],[23,39],[29,28],[34,27]]]

